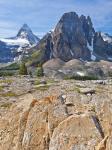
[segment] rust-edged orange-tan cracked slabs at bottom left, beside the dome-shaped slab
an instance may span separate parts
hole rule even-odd
[[[33,100],[27,107],[24,105],[26,103],[22,102],[12,108],[9,120],[1,119],[0,148],[48,150],[54,128],[68,116],[66,107],[56,97]]]

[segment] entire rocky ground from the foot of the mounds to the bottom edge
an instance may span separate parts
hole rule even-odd
[[[2,78],[0,150],[111,150],[112,80],[104,81]]]

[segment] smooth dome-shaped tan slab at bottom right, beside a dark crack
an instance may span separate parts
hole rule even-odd
[[[101,135],[91,115],[73,115],[61,122],[54,130],[50,150],[93,150],[100,139]]]

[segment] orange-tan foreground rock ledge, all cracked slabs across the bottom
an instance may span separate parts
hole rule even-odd
[[[0,119],[0,150],[112,150],[102,124],[94,112],[70,115],[59,96],[25,99]]]

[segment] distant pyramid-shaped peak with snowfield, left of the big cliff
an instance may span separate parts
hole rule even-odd
[[[38,42],[39,38],[24,24],[17,36],[0,39],[0,63],[19,61],[23,55],[28,55],[29,49]]]

